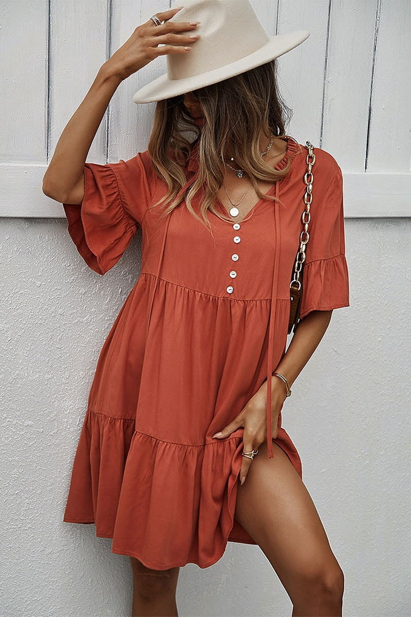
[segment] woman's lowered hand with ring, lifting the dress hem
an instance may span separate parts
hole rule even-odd
[[[271,392],[271,433],[272,437],[277,437],[277,434],[279,433],[278,419],[284,401],[287,397],[287,393],[283,382],[274,375],[272,377]],[[264,381],[258,391],[251,397],[245,407],[243,407],[237,418],[234,418],[230,424],[227,424],[221,432],[215,433],[213,437],[216,437],[216,439],[224,439],[224,437],[228,437],[231,433],[237,431],[240,426],[243,426],[243,452],[258,450],[259,446],[267,439],[266,404],[267,381]],[[243,463],[240,470],[241,484],[244,484],[252,462],[253,460],[251,458],[243,457]]]

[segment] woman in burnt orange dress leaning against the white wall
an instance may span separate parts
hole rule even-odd
[[[306,150],[284,134],[278,49],[224,80],[160,94],[147,151],[85,163],[121,81],[161,54],[176,70],[194,57],[201,36],[191,38],[198,24],[185,16],[195,4],[179,21],[179,9],[158,12],[102,65],[44,176],[44,193],[63,203],[97,273],[139,227],[143,239],[141,274],[100,352],[63,520],[95,523],[113,552],[129,556],[132,615],[177,615],[179,568],[216,563],[228,541],[261,547],[293,615],[341,615],[343,573],[282,407],[332,310],[349,305],[342,178],[332,155],[315,149],[301,321],[285,352]],[[248,2],[235,7],[252,33]]]

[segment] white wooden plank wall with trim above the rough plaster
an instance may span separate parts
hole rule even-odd
[[[4,217],[63,217],[41,191],[59,136],[100,65],[169,0],[19,0],[0,16],[0,181]],[[182,2],[184,4],[184,2]],[[269,35],[311,36],[279,59],[293,109],[287,131],[330,152],[344,173],[346,217],[411,215],[411,2],[251,0]],[[123,82],[87,160],[147,147],[155,103],[132,95],[166,71],[159,57]]]

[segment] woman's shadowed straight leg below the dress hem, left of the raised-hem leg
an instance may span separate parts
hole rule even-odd
[[[180,568],[152,570],[130,557],[132,617],[178,617],[176,590]]]

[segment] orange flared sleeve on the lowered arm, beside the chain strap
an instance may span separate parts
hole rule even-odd
[[[311,221],[299,316],[312,310],[349,306],[349,273],[345,255],[343,174],[337,171],[320,197],[312,188]],[[318,173],[318,172],[317,172]]]

